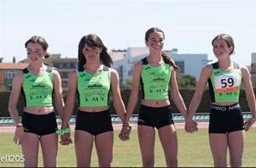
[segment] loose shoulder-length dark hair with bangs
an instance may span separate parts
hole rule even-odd
[[[108,48],[106,48],[99,36],[96,34],[89,34],[87,36],[83,36],[79,42],[79,66],[83,66],[86,63],[86,59],[84,57],[83,48],[84,44],[87,44],[90,48],[102,48],[102,53],[100,53],[100,59],[102,64],[111,67],[113,61],[108,54]]]

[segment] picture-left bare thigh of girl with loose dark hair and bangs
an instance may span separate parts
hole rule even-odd
[[[78,163],[77,166],[90,166],[93,136],[89,132],[76,130],[74,145]]]

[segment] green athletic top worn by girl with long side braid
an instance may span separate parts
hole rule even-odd
[[[143,71],[141,87],[143,99],[166,99],[169,98],[171,68],[166,62],[160,67],[148,64],[147,58],[142,59]]]

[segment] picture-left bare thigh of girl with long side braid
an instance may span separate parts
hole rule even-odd
[[[138,125],[137,133],[142,156],[154,157],[154,127]]]

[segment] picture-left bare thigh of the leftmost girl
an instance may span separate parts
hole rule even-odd
[[[25,167],[37,167],[39,137],[34,133],[27,132],[24,132],[23,136],[21,148],[25,157]]]

